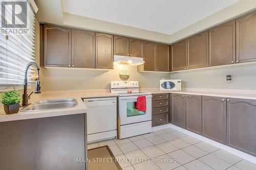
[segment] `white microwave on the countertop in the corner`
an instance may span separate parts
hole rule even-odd
[[[181,91],[181,79],[160,80],[160,91]]]

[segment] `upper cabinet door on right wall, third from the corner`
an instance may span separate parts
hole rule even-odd
[[[209,65],[232,64],[236,60],[234,20],[209,30]]]

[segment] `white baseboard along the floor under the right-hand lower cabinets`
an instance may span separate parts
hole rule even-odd
[[[196,134],[196,133],[194,133],[194,132],[190,132],[190,131],[188,131],[188,130],[185,130],[185,129],[183,129],[183,128],[180,128],[180,127],[178,127],[178,126],[175,126],[175,125],[173,125],[173,124],[167,124],[167,125],[161,125],[161,126],[153,127],[153,128],[152,128],[152,131],[161,130],[161,129],[165,129],[165,128],[173,128],[173,129],[175,129],[175,130],[177,130],[177,131],[180,131],[180,132],[182,132],[182,133],[185,133],[185,134],[187,134],[187,135],[189,135],[189,136],[195,137],[195,138],[197,138],[197,139],[199,139],[199,140],[202,140],[202,141],[204,141],[204,142],[206,142],[206,143],[209,143],[209,144],[211,144],[211,145],[214,145],[215,147],[220,148],[220,149],[222,149],[222,150],[224,150],[224,151],[227,151],[227,152],[229,152],[230,154],[239,156],[239,157],[241,157],[241,158],[243,158],[243,159],[245,159],[245,160],[248,160],[248,161],[250,161],[250,162],[252,162],[252,163],[256,163],[256,157],[254,157],[254,156],[252,156],[252,155],[249,155],[249,154],[246,154],[246,153],[241,152],[241,151],[239,151],[239,150],[233,149],[233,148],[231,148],[231,147],[228,147],[227,145],[224,145],[224,144],[221,144],[221,143],[216,142],[216,141],[214,141],[214,140],[208,139],[208,138],[206,138],[206,137],[204,137],[204,136],[198,135],[198,134]]]

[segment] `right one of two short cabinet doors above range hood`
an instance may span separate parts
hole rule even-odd
[[[130,56],[143,57],[143,40],[130,38]]]

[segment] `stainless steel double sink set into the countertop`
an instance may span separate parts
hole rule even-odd
[[[20,111],[29,112],[29,111],[44,111],[44,110],[54,110],[54,109],[67,109],[72,108],[77,105],[75,99],[51,99],[51,100],[42,100],[38,101],[32,105],[24,107]]]

